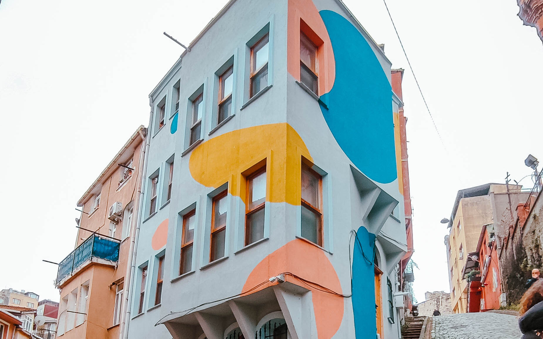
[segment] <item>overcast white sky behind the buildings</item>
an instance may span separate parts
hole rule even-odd
[[[279,1],[279,0],[270,0]],[[286,0],[281,0],[286,1]],[[56,266],[75,243],[75,203],[139,125],[148,94],[227,0],[2,0],[0,288],[59,299]],[[403,101],[419,301],[449,291],[445,247],[459,189],[519,180],[543,159],[543,43],[515,0],[388,0],[441,145],[381,0],[345,0],[395,68]],[[532,183],[529,178],[523,182]]]

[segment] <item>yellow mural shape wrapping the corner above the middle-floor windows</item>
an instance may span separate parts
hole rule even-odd
[[[228,182],[229,193],[245,201],[245,176],[265,164],[266,201],[299,205],[302,157],[313,162],[293,127],[269,124],[207,140],[192,151],[189,169],[194,180],[206,187]]]

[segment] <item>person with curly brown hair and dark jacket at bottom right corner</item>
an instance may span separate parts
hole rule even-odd
[[[522,339],[543,338],[543,279],[535,279],[520,299],[519,329]]]

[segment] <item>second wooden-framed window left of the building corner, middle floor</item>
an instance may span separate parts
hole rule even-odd
[[[224,257],[226,240],[226,205],[228,191],[223,191],[213,198],[211,214],[211,251],[209,261]]]

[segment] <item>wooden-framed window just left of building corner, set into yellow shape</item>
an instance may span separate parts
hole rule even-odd
[[[264,205],[266,204],[266,168],[247,178],[245,211],[245,246],[264,238]]]

